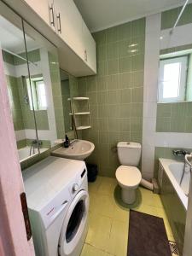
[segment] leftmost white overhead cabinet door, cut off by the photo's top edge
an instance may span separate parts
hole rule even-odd
[[[25,0],[25,2],[50,26],[55,28],[54,0]]]

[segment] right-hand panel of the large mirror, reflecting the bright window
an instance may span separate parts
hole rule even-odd
[[[38,131],[38,141],[34,146],[42,153],[55,144],[56,127],[59,127],[55,124],[55,118],[57,121],[60,119],[57,116],[57,105],[61,99],[54,98],[55,93],[61,90],[58,55],[55,46],[25,21],[24,32],[30,74],[25,81],[26,90],[29,95],[29,108],[34,110]]]

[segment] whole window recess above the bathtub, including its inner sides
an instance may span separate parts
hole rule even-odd
[[[192,45],[160,50],[158,102],[192,102]]]

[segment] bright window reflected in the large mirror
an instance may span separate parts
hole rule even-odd
[[[44,79],[42,77],[31,79],[32,90],[30,88],[29,79],[26,79],[26,84],[27,84],[27,90],[29,95],[30,109],[32,110],[32,103],[33,103],[35,110],[46,110],[47,99],[46,99],[46,92],[45,92],[45,86],[44,86]]]

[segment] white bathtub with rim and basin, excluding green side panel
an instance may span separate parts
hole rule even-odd
[[[189,181],[190,181],[190,168],[188,165],[185,166],[183,181],[180,185],[180,181],[183,174],[184,162],[178,160],[170,160],[160,158],[160,165],[163,167],[166,176],[172,183],[173,188],[176,190],[178,198],[183,204],[185,210],[188,207],[188,194],[189,194]],[[162,171],[162,170],[161,170]],[[162,183],[162,175],[159,168],[158,179]]]

